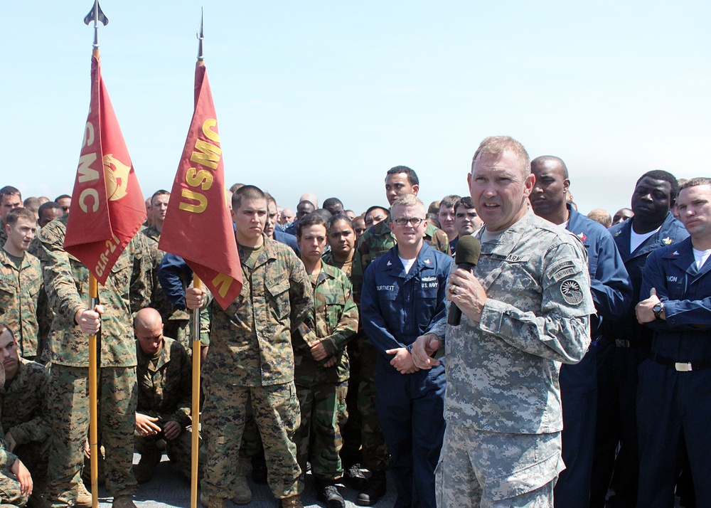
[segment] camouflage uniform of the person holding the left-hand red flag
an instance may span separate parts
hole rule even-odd
[[[50,222],[40,233],[45,288],[55,312],[47,344],[52,362],[47,419],[53,444],[46,496],[51,507],[76,501],[89,428],[89,336],[74,321],[75,314],[88,306],[89,270],[64,250],[67,218]],[[145,262],[143,245],[134,238],[106,285],[99,285],[99,303],[105,307],[97,337],[99,430],[106,449],[106,488],[114,497],[132,494],[137,485],[131,469],[137,403],[131,314],[149,303]]]

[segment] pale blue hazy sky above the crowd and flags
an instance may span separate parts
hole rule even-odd
[[[491,134],[562,157],[581,211],[629,206],[644,171],[709,176],[704,1],[205,0],[226,179],[282,206],[356,212],[405,164],[465,194]],[[91,1],[2,1],[0,184],[71,194],[89,106]],[[144,194],[170,189],[193,107],[196,1],[104,0],[103,76]]]

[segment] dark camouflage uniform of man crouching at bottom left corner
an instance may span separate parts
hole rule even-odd
[[[2,398],[1,423],[17,443],[13,453],[32,475],[33,497],[42,494],[47,479],[47,460],[52,431],[45,416],[49,371],[43,365],[23,358]]]

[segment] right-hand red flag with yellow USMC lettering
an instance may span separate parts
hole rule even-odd
[[[195,69],[193,121],[158,246],[183,258],[223,309],[242,291],[242,266],[225,194],[217,115],[201,62]]]

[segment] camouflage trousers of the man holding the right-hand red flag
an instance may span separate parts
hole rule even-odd
[[[232,499],[240,467],[240,443],[247,404],[252,403],[267,459],[267,482],[274,497],[300,494],[301,468],[296,462],[294,433],[299,427],[299,401],[294,383],[274,386],[235,386],[220,379],[205,379],[202,429],[208,442],[208,461],[201,487],[212,497]]]

